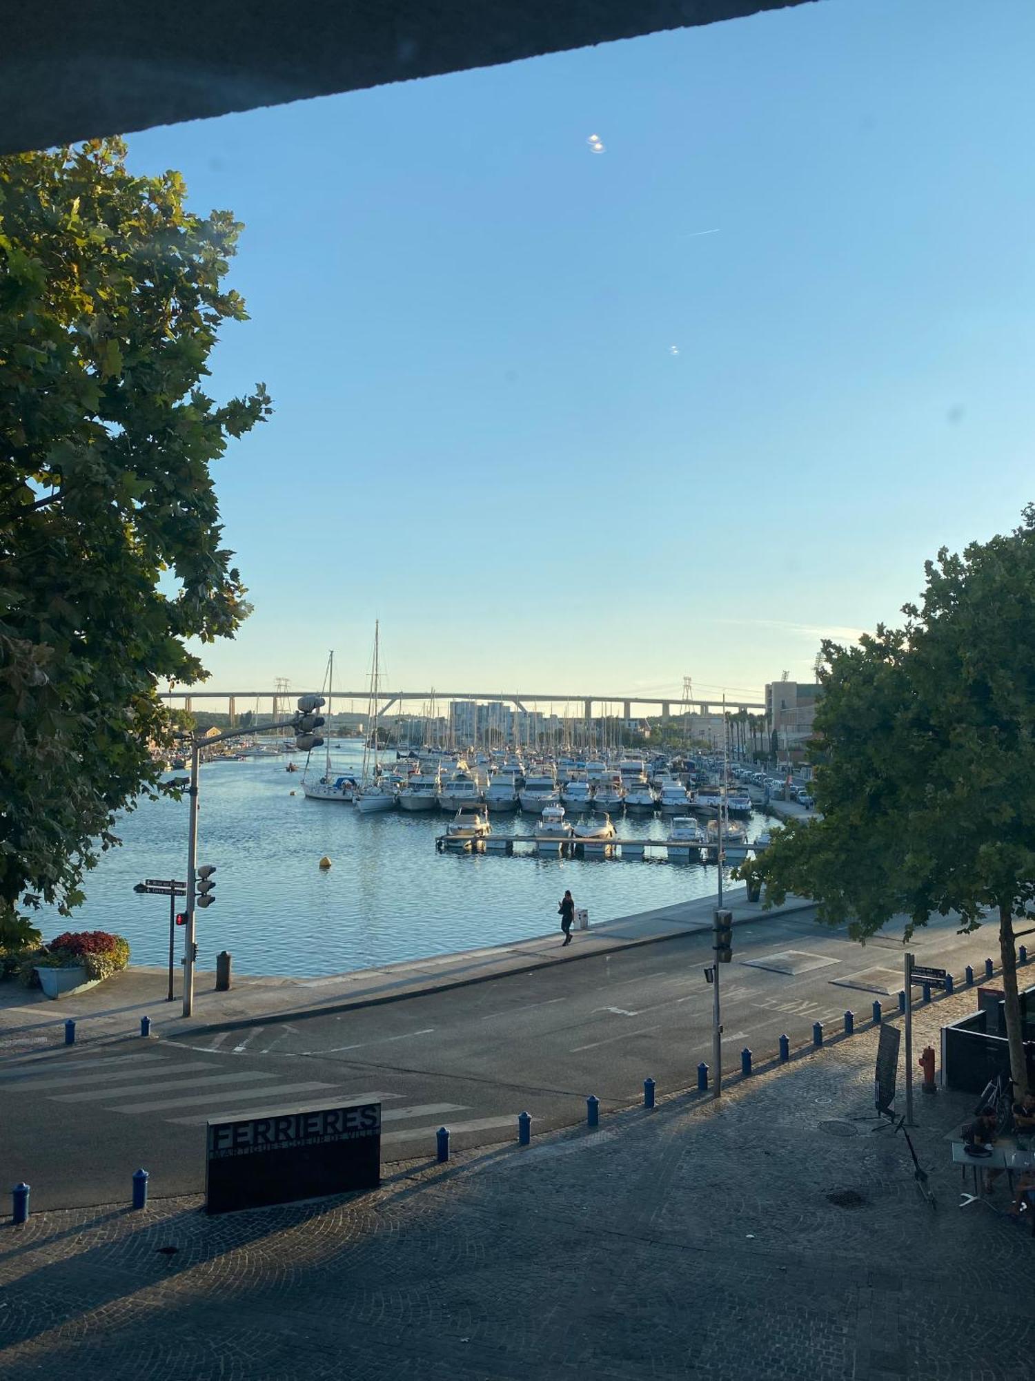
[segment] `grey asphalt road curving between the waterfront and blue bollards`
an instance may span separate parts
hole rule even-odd
[[[994,935],[940,921],[912,949],[962,978],[967,963],[983,971]],[[709,961],[701,932],[341,1015],[11,1056],[0,1175],[28,1181],[40,1208],[126,1200],[138,1166],[156,1195],[196,1193],[208,1117],[299,1103],[379,1098],[385,1160],[431,1153],[442,1124],[457,1146],[506,1139],[522,1110],[535,1131],[571,1124],[588,1094],[606,1110],[642,1097],[647,1076],[660,1092],[693,1084],[711,1062]],[[861,949],[811,911],[738,925],[722,974],[724,1069],[745,1045],[770,1055],[784,1032],[807,1041],[816,1021],[840,1030],[846,1008],[868,1019],[901,987],[901,964],[893,934]]]

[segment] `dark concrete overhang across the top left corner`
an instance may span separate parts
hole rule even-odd
[[[814,0],[40,0],[0,43],[0,153],[515,62]]]

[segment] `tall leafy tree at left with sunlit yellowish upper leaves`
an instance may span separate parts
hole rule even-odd
[[[0,943],[81,900],[159,789],[159,681],[247,613],[210,464],[269,413],[200,388],[241,226],[135,177],[119,139],[0,159]],[[157,753],[152,754],[152,747]]]

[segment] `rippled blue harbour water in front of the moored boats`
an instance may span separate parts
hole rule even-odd
[[[362,749],[335,751],[357,768]],[[542,935],[559,925],[571,888],[592,921],[707,896],[715,867],[618,859],[450,855],[435,849],[442,811],[360,816],[351,805],[309,801],[282,758],[201,768],[199,863],[214,863],[215,903],[197,913],[199,961],[228,949],[240,974],[327,975]],[[290,793],[295,791],[293,797]],[[531,833],[533,818],[494,815],[493,833]],[[668,822],[615,818],[621,837],[665,838]],[[759,822],[752,820],[749,834]],[[87,902],[59,929],[124,935],[135,964],[168,960],[168,900],[139,896],[145,877],[184,878],[186,801],[142,801],[116,826],[121,848],[87,874]],[[333,867],[320,870],[327,855]],[[177,931],[177,964],[184,931]]]

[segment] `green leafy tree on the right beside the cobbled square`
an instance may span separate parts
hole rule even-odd
[[[1013,921],[1035,900],[1035,505],[1007,536],[943,548],[903,628],[824,642],[816,805],[741,870],[767,903],[813,896],[865,940],[896,914],[960,932],[998,917],[1010,1069],[1027,1088]]]

